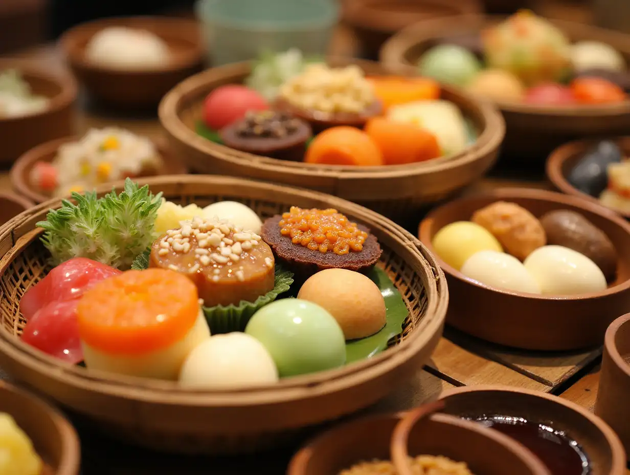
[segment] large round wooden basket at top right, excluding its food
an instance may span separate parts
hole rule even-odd
[[[421,54],[438,40],[452,35],[477,33],[505,20],[498,16],[458,16],[411,25],[392,37],[381,50],[387,66],[415,66]],[[630,37],[568,21],[549,20],[572,41],[595,40],[619,50],[630,62]],[[630,130],[630,100],[610,105],[543,107],[524,103],[498,103],[506,124],[502,151],[510,160],[542,163],[551,151],[570,140],[600,135],[620,135]]]

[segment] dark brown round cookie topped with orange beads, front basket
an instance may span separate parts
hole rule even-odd
[[[368,228],[336,209],[293,206],[287,213],[268,218],[261,235],[277,258],[302,278],[331,268],[365,273],[382,254]]]

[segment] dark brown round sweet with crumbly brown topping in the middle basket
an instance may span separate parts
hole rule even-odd
[[[311,126],[287,112],[249,111],[219,135],[226,146],[280,160],[302,160]]]

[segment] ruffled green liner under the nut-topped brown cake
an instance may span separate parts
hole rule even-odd
[[[261,295],[256,302],[241,300],[238,305],[217,305],[216,307],[203,307],[203,314],[210,326],[210,333],[242,332],[245,331],[251,315],[260,308],[265,307],[278,298],[278,295],[289,290],[293,283],[293,273],[286,271],[281,266],[275,267],[275,284],[273,289],[265,295]]]

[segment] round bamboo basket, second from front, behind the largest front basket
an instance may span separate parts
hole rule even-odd
[[[392,72],[370,61],[328,62],[333,66],[358,64],[368,75]],[[249,62],[215,67],[186,79],[163,98],[160,120],[171,147],[185,158],[190,170],[307,187],[358,202],[398,223],[413,221],[415,225],[415,212],[421,206],[444,199],[484,175],[495,163],[503,140],[505,124],[491,105],[447,87],[442,97],[457,103],[479,131],[474,144],[450,158],[381,167],[318,165],[251,155],[199,136],[195,121],[201,118],[207,94],[221,85],[241,83],[250,71]],[[403,68],[398,73],[413,75],[415,69]]]

